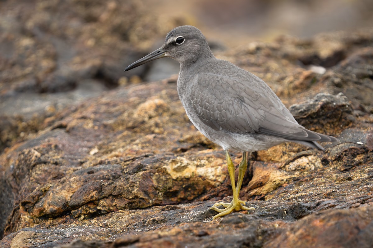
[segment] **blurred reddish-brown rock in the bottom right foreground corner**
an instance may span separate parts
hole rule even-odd
[[[330,209],[293,223],[264,247],[370,247],[372,220],[372,204],[349,210]]]

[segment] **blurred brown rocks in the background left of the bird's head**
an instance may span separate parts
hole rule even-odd
[[[43,120],[66,106],[141,81],[147,66],[123,68],[183,23],[144,1],[2,1],[0,149],[43,130]]]

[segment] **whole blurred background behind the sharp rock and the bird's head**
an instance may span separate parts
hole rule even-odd
[[[219,56],[278,35],[310,38],[370,27],[372,11],[369,0],[1,1],[0,149],[70,104],[177,74],[171,59],[123,71],[175,26],[198,26]]]

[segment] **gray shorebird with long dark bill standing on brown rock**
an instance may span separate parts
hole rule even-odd
[[[180,63],[177,88],[189,119],[225,152],[233,200],[215,203],[211,209],[219,213],[213,219],[233,211],[254,209],[238,198],[247,168],[247,152],[288,141],[325,151],[317,141],[338,141],[299,125],[263,80],[215,58],[205,36],[193,26],[172,29],[161,48],[129,65],[125,71],[163,57]],[[229,149],[242,151],[237,184]]]

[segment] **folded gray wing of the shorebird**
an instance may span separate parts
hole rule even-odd
[[[299,125],[266,83],[242,71],[236,77],[198,74],[191,103],[204,124],[218,131],[257,132],[294,140],[321,141],[326,136]]]

